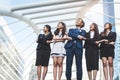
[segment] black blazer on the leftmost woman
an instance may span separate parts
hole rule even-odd
[[[53,35],[50,33],[48,35],[40,34],[38,36],[38,45],[37,50],[43,49],[43,50],[51,50],[50,44],[47,43],[47,40],[52,40]]]

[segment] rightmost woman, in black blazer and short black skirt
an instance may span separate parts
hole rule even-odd
[[[105,23],[104,31],[101,32],[101,45],[100,45],[100,58],[103,63],[103,71],[105,80],[108,80],[108,71],[109,71],[109,80],[113,80],[113,59],[114,59],[114,44],[116,41],[116,33],[111,31],[112,24]],[[109,67],[109,68],[108,68]],[[109,69],[109,70],[108,70]]]

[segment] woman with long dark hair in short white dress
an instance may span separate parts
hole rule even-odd
[[[57,29],[54,32],[53,36],[53,49],[51,55],[53,58],[53,75],[54,80],[57,80],[57,70],[58,70],[58,80],[61,80],[62,71],[63,71],[63,59],[65,56],[65,37],[66,37],[66,25],[63,22],[59,22]]]

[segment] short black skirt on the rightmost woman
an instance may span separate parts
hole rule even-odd
[[[112,57],[114,58],[114,46],[106,46],[104,45],[104,47],[100,48],[100,58],[102,59],[102,57],[106,57],[108,59],[108,57]]]

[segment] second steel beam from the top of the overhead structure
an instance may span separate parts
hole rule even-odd
[[[49,12],[49,11],[56,11],[56,10],[63,10],[63,9],[69,9],[69,8],[75,8],[75,7],[83,7],[85,6],[85,3],[78,2],[78,3],[72,3],[72,4],[65,4],[63,5],[56,5],[56,6],[49,6],[44,8],[38,8],[33,10],[26,10],[22,12],[22,15],[31,15],[36,13],[42,13],[42,12]]]

